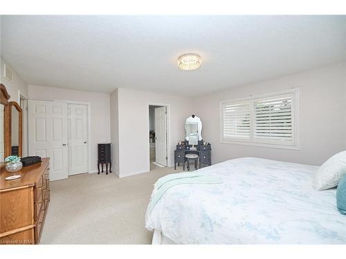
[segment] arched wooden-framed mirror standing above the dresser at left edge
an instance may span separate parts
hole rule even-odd
[[[6,87],[0,84],[0,162],[8,155],[21,156],[22,150],[22,110],[9,99]]]

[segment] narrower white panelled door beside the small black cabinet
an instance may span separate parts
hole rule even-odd
[[[69,175],[88,171],[88,116],[86,105],[68,104],[68,167]]]

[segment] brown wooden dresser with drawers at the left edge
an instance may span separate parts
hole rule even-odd
[[[0,244],[38,244],[50,200],[49,158],[23,167],[18,180],[0,164]]]

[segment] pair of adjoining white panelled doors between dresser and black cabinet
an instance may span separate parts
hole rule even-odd
[[[86,106],[28,101],[28,153],[51,158],[51,180],[87,172],[86,140]]]

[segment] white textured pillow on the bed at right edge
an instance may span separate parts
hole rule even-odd
[[[319,191],[337,186],[346,175],[346,151],[333,155],[320,166],[318,172],[313,177],[313,188]]]

